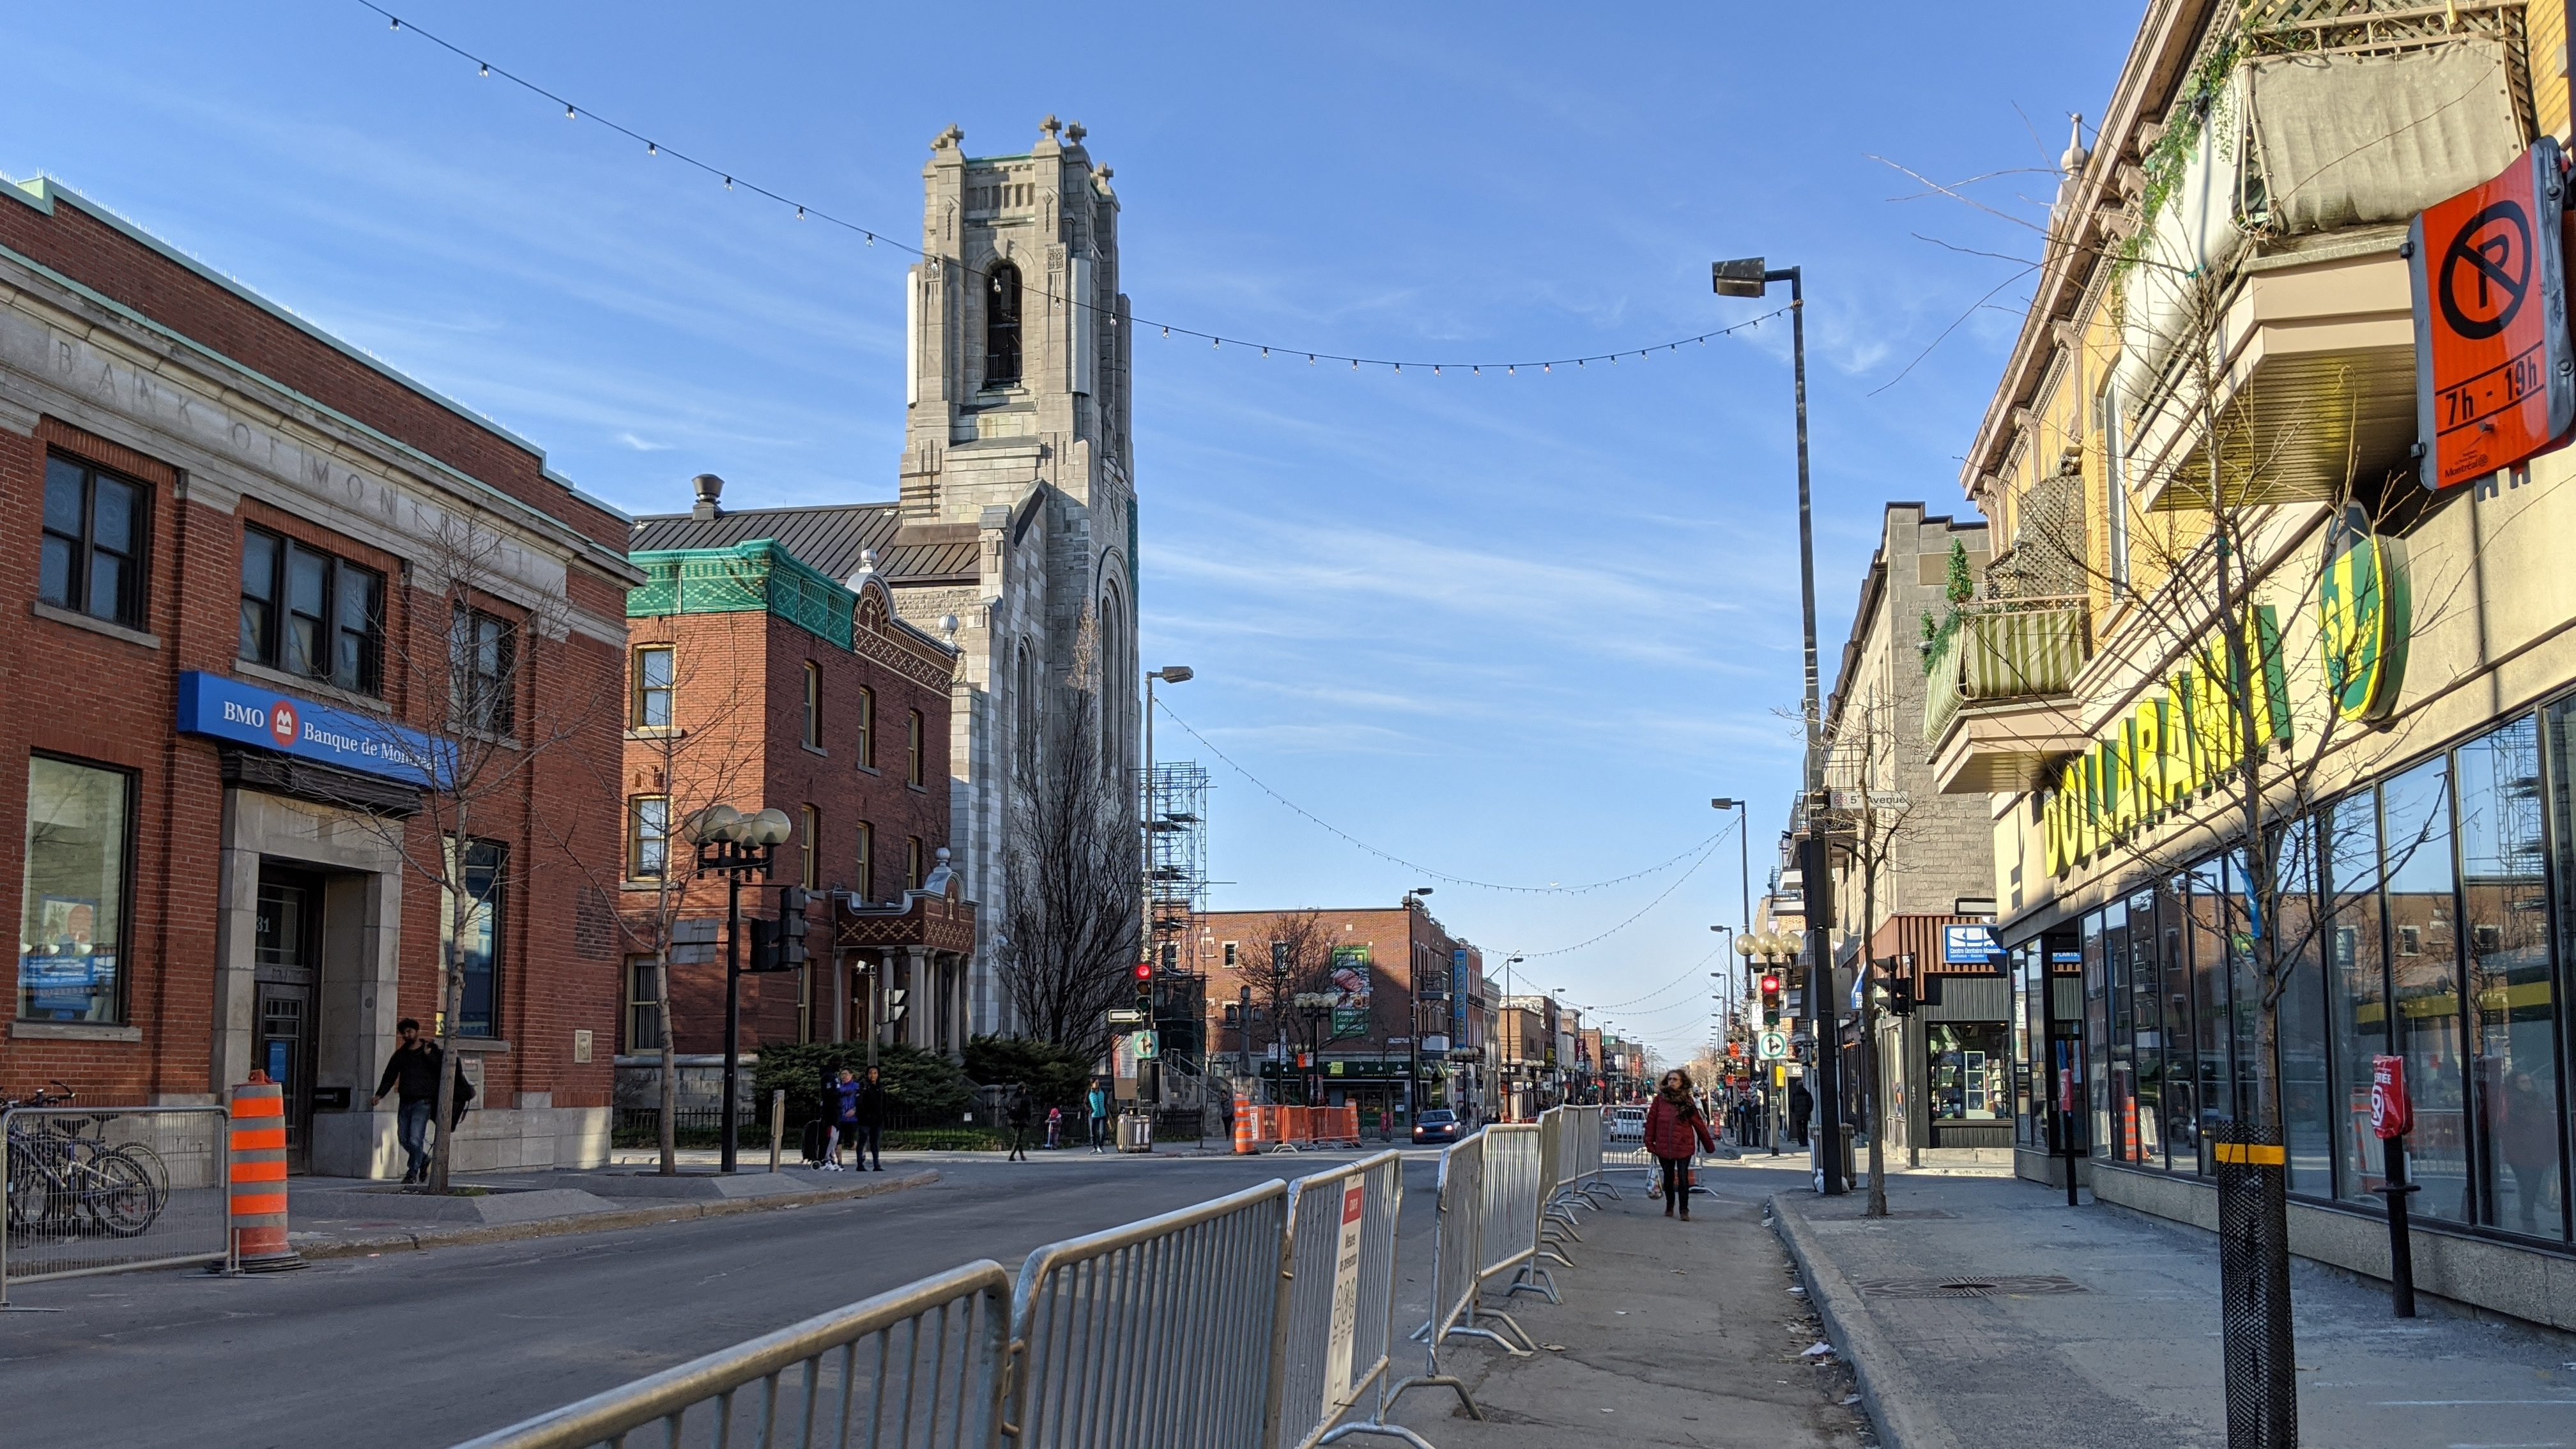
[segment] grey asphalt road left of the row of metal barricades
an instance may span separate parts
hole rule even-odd
[[[1430,1271],[1435,1152],[1406,1152],[1399,1338]],[[443,1449],[925,1274],[1188,1207],[1311,1158],[958,1160],[881,1199],[314,1263],[10,1289],[0,1441]],[[889,1163],[891,1168],[894,1163]]]

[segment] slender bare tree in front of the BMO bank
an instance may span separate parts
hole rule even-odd
[[[495,902],[533,879],[536,861],[495,835],[536,817],[541,761],[598,745],[616,683],[590,681],[567,650],[574,608],[559,575],[474,513],[412,505],[420,549],[394,598],[384,657],[379,748],[412,753],[422,776],[412,817],[361,815],[438,892],[438,1101],[430,1191],[448,1191],[456,1122],[456,1034],[466,957],[497,928]]]

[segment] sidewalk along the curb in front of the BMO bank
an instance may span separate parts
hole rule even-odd
[[[917,1163],[896,1163],[884,1173],[770,1173],[768,1160],[744,1163],[734,1176],[719,1176],[714,1160],[683,1165],[670,1178],[634,1165],[471,1173],[453,1186],[474,1191],[451,1196],[422,1196],[366,1178],[286,1178],[286,1243],[304,1258],[363,1258],[845,1201],[935,1181],[940,1173]]]

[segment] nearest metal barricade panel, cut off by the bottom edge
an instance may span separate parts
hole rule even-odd
[[[484,1434],[459,1449],[994,1449],[1010,1354],[1010,1274],[994,1261],[814,1315],[750,1343]]]

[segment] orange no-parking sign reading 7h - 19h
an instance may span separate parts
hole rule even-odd
[[[2576,423],[2563,196],[2558,142],[2540,137],[2504,175],[2427,206],[2406,235],[2424,487],[2519,464]]]

